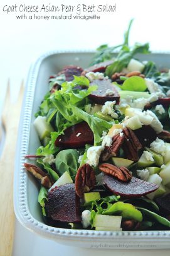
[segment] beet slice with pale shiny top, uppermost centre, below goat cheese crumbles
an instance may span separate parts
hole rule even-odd
[[[97,91],[93,91],[88,97],[90,100],[97,104],[102,104],[104,105],[105,102],[113,102],[114,100],[116,101],[116,104],[119,104],[120,100],[120,95],[118,91],[115,89],[115,86],[110,82],[109,79],[95,79],[90,83],[91,85],[97,85],[98,89]],[[105,92],[107,90],[112,90],[114,91],[114,95],[105,95]]]

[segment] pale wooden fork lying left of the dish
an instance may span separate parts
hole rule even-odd
[[[13,173],[18,125],[23,101],[23,83],[16,103],[11,103],[9,84],[6,92],[2,123],[6,131],[0,158],[0,256],[11,256],[14,236]]]

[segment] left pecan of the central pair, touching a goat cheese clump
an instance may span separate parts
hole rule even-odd
[[[120,137],[119,134],[116,134],[115,136],[112,137],[112,146],[108,147],[105,146],[105,149],[102,153],[102,161],[107,161],[109,160],[110,157],[112,156],[117,156],[117,153],[124,143],[124,136]]]

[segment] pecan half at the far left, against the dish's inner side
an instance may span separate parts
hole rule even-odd
[[[31,163],[24,163],[24,167],[28,172],[31,172],[35,178],[40,180],[43,186],[47,188],[51,187],[52,184],[51,184],[50,178],[48,177],[48,175],[46,175],[45,172],[43,172],[43,170],[41,170],[41,168],[39,168],[36,165],[31,165]]]

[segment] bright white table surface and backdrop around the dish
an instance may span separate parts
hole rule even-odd
[[[44,1],[48,4],[48,1]],[[56,4],[55,0],[50,1]],[[68,0],[58,0],[58,4],[68,4]],[[86,4],[104,4],[100,0],[87,0]],[[48,50],[95,49],[100,44],[115,45],[122,42],[123,33],[130,18],[135,18],[130,44],[149,42],[152,50],[169,49],[169,9],[167,0],[105,1],[116,3],[117,11],[113,15],[102,15],[98,21],[29,21],[15,20],[14,14],[6,15],[2,11],[5,4],[14,4],[12,0],[1,0],[0,3],[0,113],[3,106],[6,84],[10,78],[12,99],[16,100],[21,80],[26,76],[31,62]],[[16,4],[27,3],[16,0]],[[29,4],[40,4],[42,1],[31,0]],[[81,0],[72,4],[82,3]],[[42,95],[43,97],[43,95]],[[1,210],[1,209],[0,209]],[[0,238],[1,239],[1,238]],[[23,228],[16,221],[13,256],[46,256],[46,255],[169,255],[170,250],[117,251],[91,250],[67,247],[55,241],[46,240]],[[4,255],[5,256],[5,255]]]

